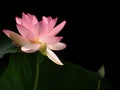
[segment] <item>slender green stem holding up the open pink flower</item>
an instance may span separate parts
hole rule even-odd
[[[42,63],[42,59],[40,60],[40,53],[37,53],[37,60],[36,60],[36,77],[35,77],[34,90],[37,90],[38,79],[39,79],[39,69],[40,69],[40,64],[41,64],[41,63]]]

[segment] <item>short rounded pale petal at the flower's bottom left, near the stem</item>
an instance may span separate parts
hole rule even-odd
[[[22,46],[21,50],[26,53],[33,53],[38,51],[40,48],[40,44],[28,44]]]

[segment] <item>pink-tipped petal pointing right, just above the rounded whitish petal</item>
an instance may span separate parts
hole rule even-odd
[[[43,37],[43,38],[41,37],[39,41],[46,42],[49,45],[49,44],[55,44],[55,43],[61,41],[62,38],[63,37],[56,37],[56,36]]]

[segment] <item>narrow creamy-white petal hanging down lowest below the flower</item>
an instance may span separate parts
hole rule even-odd
[[[56,54],[51,51],[50,49],[47,49],[47,56],[48,58],[53,61],[54,63],[58,65],[63,65],[63,63],[60,61],[60,59],[56,56]]]

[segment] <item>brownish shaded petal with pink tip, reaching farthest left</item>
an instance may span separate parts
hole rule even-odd
[[[10,30],[3,30],[3,32],[10,38],[12,39],[16,44],[18,44],[19,46],[22,46],[22,45],[26,45],[26,44],[29,44],[30,42],[21,37],[19,34],[15,33],[15,32],[12,32]]]

